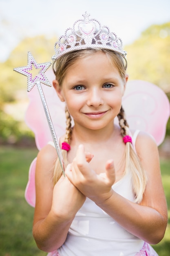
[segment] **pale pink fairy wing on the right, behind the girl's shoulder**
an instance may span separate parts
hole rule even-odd
[[[163,90],[147,81],[130,81],[122,106],[130,129],[148,132],[158,146],[163,142],[170,117],[170,103]]]

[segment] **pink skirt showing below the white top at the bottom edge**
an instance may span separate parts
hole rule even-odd
[[[60,254],[56,251],[54,252],[49,252],[47,256],[60,256]],[[137,252],[135,256],[159,256],[155,250],[150,246],[148,243],[144,243],[142,249],[140,252]]]

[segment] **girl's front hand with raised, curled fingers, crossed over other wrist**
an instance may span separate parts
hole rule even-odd
[[[66,177],[71,183],[93,200],[95,203],[106,201],[113,194],[112,185],[115,182],[113,160],[106,162],[106,170],[99,175],[90,168],[86,161],[84,146],[79,145],[77,155],[72,164],[66,168]]]

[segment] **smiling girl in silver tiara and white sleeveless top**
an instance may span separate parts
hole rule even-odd
[[[35,241],[51,256],[157,256],[149,244],[167,225],[159,154],[150,135],[128,128],[121,40],[85,13],[57,44],[53,86],[66,103],[66,177],[49,142],[36,165]]]

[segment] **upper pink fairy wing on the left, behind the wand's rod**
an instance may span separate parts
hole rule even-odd
[[[55,79],[52,70],[46,72],[46,77],[52,84],[53,79]],[[66,128],[64,110],[65,103],[60,101],[53,86],[49,87],[42,84],[42,90],[44,92],[49,113],[55,128],[55,133],[57,137],[60,137],[64,134]],[[31,128],[31,130],[34,132],[35,143],[38,150],[40,150],[49,141],[53,141],[53,139],[38,88],[36,88],[36,86],[34,86],[33,89],[28,92],[28,97],[30,99],[30,103],[26,111],[25,121],[29,128]]]

